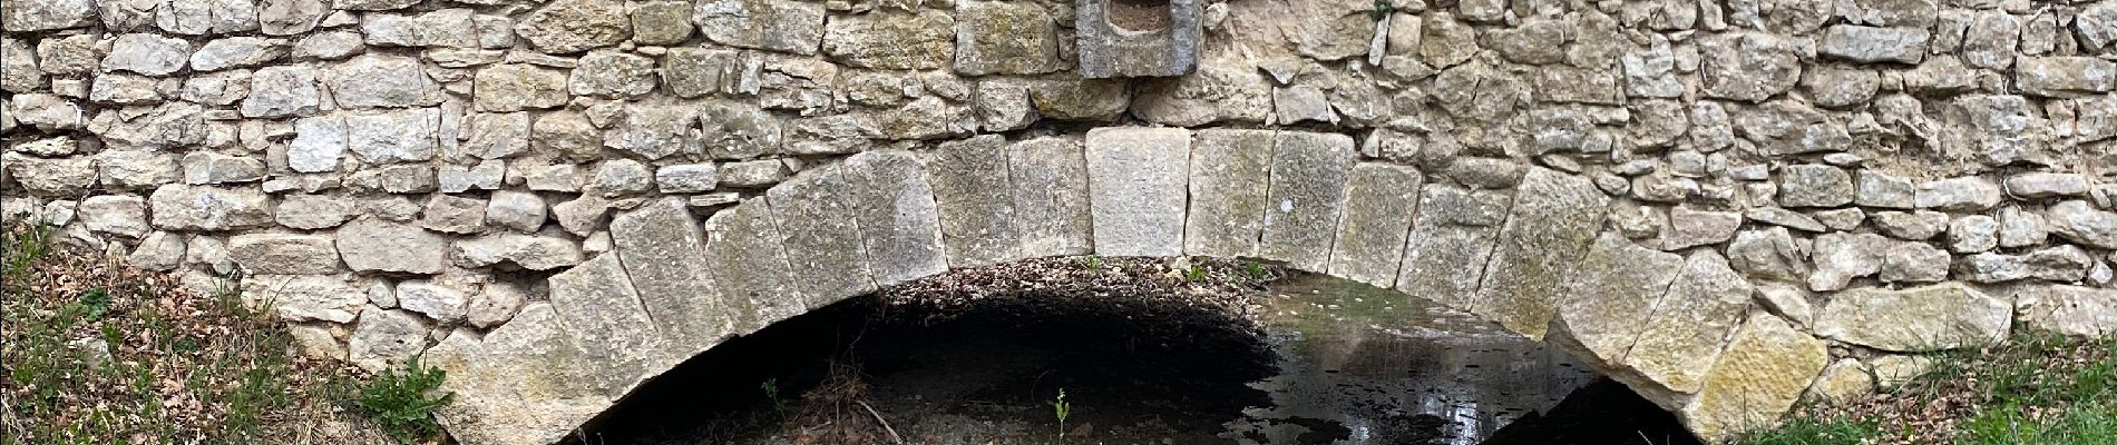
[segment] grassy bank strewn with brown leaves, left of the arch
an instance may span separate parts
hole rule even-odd
[[[51,234],[0,226],[0,445],[375,443],[307,432],[349,373],[296,356],[267,310]]]

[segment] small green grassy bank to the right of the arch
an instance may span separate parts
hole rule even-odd
[[[1935,354],[1933,371],[1867,401],[1808,405],[1742,445],[2111,445],[2117,340],[2024,335]]]

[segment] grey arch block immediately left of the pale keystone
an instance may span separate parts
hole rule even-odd
[[[1023,238],[1023,257],[1086,255],[1094,249],[1084,152],[1080,139],[1008,143],[1008,181],[1014,186],[1014,230]]]

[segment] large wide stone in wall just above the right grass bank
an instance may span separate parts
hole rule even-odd
[[[1831,297],[1816,335],[1848,344],[1931,352],[2005,342],[2013,304],[1960,283],[1903,291],[1850,289]]]

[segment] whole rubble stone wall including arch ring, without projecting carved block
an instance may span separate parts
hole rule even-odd
[[[2111,0],[0,0],[0,213],[563,439],[951,268],[1262,257],[1702,437],[2117,333]]]

